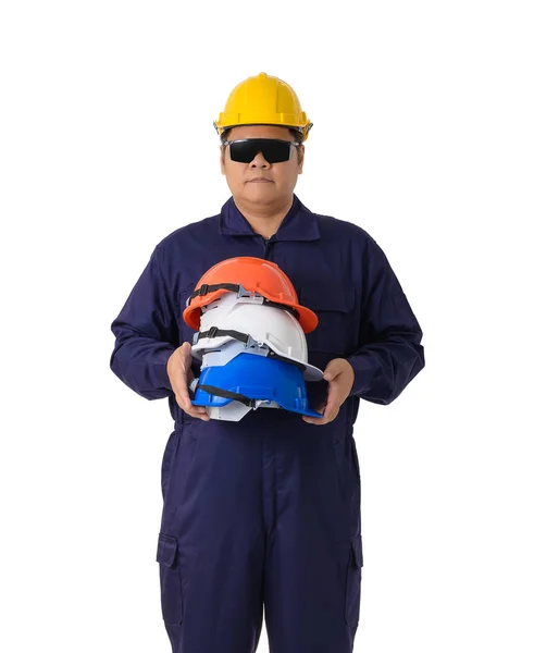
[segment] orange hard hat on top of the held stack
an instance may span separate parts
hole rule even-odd
[[[271,305],[282,305],[295,313],[302,331],[310,333],[318,325],[316,315],[300,306],[295,286],[276,263],[251,256],[239,256],[215,263],[206,272],[187,299],[184,321],[191,329],[200,329],[201,307],[211,304],[223,293],[257,293]]]

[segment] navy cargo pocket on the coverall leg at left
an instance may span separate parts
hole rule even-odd
[[[167,624],[182,624],[182,575],[177,560],[178,542],[172,535],[160,533],[156,560],[160,563],[161,608]]]

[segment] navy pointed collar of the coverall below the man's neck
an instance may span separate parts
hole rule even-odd
[[[232,196],[221,209],[220,232],[225,236],[257,236]],[[318,219],[293,194],[293,205],[272,236],[273,241],[316,241],[321,237]]]

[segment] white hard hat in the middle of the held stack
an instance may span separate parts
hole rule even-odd
[[[298,320],[283,308],[263,306],[263,300],[260,295],[238,298],[224,293],[203,307],[191,355],[212,366],[225,365],[245,350],[293,362],[307,381],[320,381],[323,372],[308,364],[306,335]],[[215,355],[210,354],[213,350]],[[220,362],[213,362],[214,357]]]

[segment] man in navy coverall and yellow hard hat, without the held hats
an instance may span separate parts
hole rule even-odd
[[[311,124],[281,79],[239,84],[215,123],[232,197],[158,244],[112,323],[112,370],[166,397],[174,418],[157,551],[173,652],[252,653],[263,607],[271,653],[352,651],[363,564],[353,422],[360,398],[393,402],[424,355],[376,242],[294,194]],[[309,361],[324,380],[307,391],[322,418],[260,408],[226,422],[191,405],[199,364],[182,312],[200,276],[236,256],[276,262],[316,312]]]

